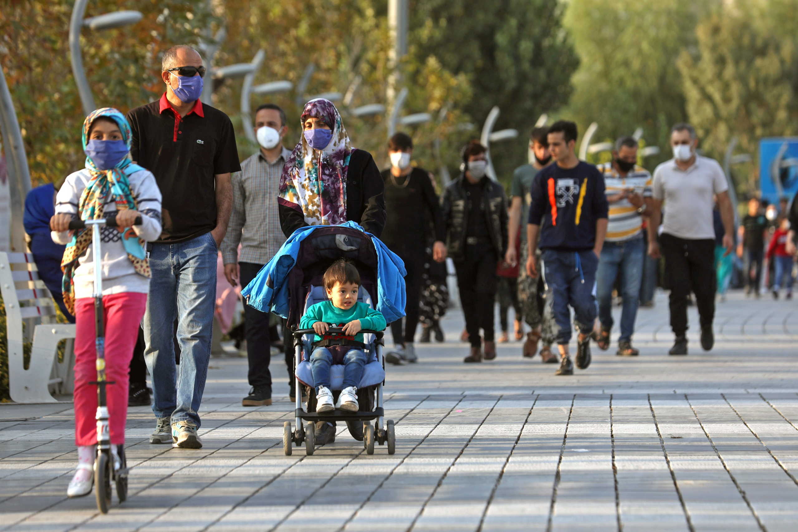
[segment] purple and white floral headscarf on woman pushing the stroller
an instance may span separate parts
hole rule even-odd
[[[323,150],[314,150],[305,140],[304,127],[300,127],[299,144],[282,168],[278,200],[302,211],[309,226],[337,226],[346,222],[346,172],[353,148],[333,102],[310,100],[302,110],[300,124],[308,116],[330,126],[332,139]]]

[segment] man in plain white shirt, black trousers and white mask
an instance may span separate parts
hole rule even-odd
[[[674,159],[654,170],[654,199],[651,226],[658,227],[662,203],[666,217],[658,243],[649,242],[649,254],[665,256],[666,280],[670,286],[670,327],[676,341],[670,355],[687,354],[687,298],[690,290],[696,296],[701,320],[701,347],[713,348],[715,337],[715,270],[713,268],[715,231],[713,196],[721,209],[725,228],[723,246],[731,253],[734,234],[734,211],[729,199],[729,185],[716,160],[696,154],[698,139],[689,124],[676,124],[670,132]]]

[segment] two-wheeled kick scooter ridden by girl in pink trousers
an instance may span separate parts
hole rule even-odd
[[[141,217],[136,218],[134,225],[140,225]],[[111,453],[111,435],[109,430],[108,405],[105,398],[105,386],[117,384],[115,380],[105,380],[105,323],[102,306],[102,261],[101,261],[101,226],[117,227],[117,219],[81,220],[69,222],[69,229],[92,228],[92,254],[94,256],[94,327],[97,348],[97,380],[89,384],[97,384],[97,459],[94,460],[94,495],[97,498],[97,510],[108,513],[111,504],[111,481],[117,485],[117,498],[124,502],[128,498],[128,463],[124,458],[124,446],[120,445],[120,466],[114,464]]]

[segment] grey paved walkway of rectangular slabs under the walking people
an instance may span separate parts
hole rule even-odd
[[[275,404],[242,408],[246,361],[214,359],[205,447],[148,444],[152,414],[131,408],[130,496],[107,515],[65,499],[69,404],[0,405],[0,530],[796,530],[798,302],[733,294],[715,349],[694,328],[678,358],[666,306],[641,309],[640,357],[594,349],[571,377],[517,343],[463,365],[453,312],[450,341],[389,368],[393,456],[365,455],[346,428],[284,456],[281,362]]]

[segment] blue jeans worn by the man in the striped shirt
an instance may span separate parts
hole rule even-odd
[[[621,276],[620,292],[623,298],[621,312],[621,337],[619,342],[631,341],[634,320],[640,304],[640,283],[646,250],[642,238],[624,242],[604,242],[599,270],[596,272],[596,298],[599,300],[599,321],[604,329],[612,329],[612,289]]]

